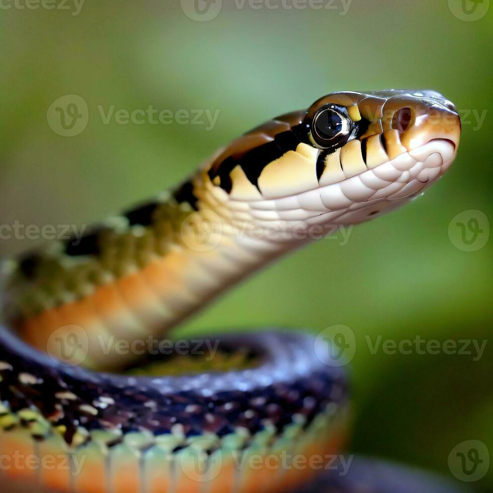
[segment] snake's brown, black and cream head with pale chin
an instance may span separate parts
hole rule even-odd
[[[236,139],[207,174],[254,220],[353,224],[440,178],[460,132],[455,106],[435,91],[337,92]]]

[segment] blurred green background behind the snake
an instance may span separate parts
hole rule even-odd
[[[464,117],[443,180],[357,226],[346,245],[318,241],[273,265],[181,331],[348,325],[357,339],[351,450],[448,475],[449,452],[462,441],[481,440],[493,454],[491,341],[473,361],[372,355],[365,339],[489,337],[491,239],[465,252],[448,228],[462,211],[492,217],[493,7],[468,22],[454,15],[454,0],[353,0],[346,15],[340,0],[335,10],[224,4],[207,22],[187,17],[177,0],[86,0],[78,15],[71,0],[68,11],[0,10],[0,223],[97,221],[177,184],[249,128],[332,91],[436,89]],[[48,107],[66,94],[89,108],[86,130],[74,137],[47,124]],[[106,125],[98,105],[220,113],[210,131]],[[481,125],[466,115],[472,110],[485,115]],[[1,240],[0,254],[32,246]],[[493,484],[493,468],[480,482]]]

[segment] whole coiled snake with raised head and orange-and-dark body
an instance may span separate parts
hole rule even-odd
[[[0,450],[18,458],[4,476],[81,493],[299,488],[348,437],[334,341],[269,329],[202,337],[202,351],[185,340],[187,354],[147,342],[332,227],[421,195],[460,133],[435,91],[331,93],[84,235],[4,259]]]

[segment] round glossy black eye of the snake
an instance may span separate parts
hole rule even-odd
[[[313,117],[312,137],[317,145],[329,148],[345,143],[353,130],[353,121],[334,105],[320,108]]]

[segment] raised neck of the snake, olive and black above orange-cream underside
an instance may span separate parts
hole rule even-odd
[[[3,314],[24,340],[55,356],[62,355],[53,339],[81,328],[91,348],[84,365],[115,370],[133,359],[117,354],[116,341],[162,337],[291,247],[281,235],[267,237],[205,167],[82,237],[10,261]]]

